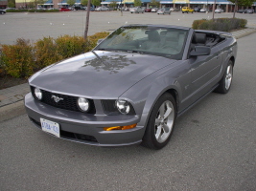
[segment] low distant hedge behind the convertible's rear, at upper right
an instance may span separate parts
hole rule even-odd
[[[194,30],[230,32],[232,30],[244,28],[246,24],[247,20],[239,18],[217,18],[214,20],[202,19],[195,20],[192,28]]]

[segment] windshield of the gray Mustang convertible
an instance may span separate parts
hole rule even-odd
[[[187,30],[148,26],[121,27],[94,50],[147,53],[181,59]]]

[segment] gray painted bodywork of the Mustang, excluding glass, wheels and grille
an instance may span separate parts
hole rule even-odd
[[[236,40],[226,32],[213,32],[227,37],[212,48],[210,55],[190,56],[194,32],[190,29],[181,60],[141,53],[95,51],[96,55],[84,53],[42,70],[31,77],[31,85],[50,92],[93,98],[97,113],[88,116],[53,108],[29,94],[25,97],[28,116],[36,120],[44,117],[58,122],[63,130],[88,134],[100,140],[98,144],[81,141],[86,144],[123,146],[139,143],[159,96],[172,91],[177,113],[181,115],[217,87],[228,60],[235,60]],[[106,116],[100,99],[109,98],[128,100],[136,115]],[[126,131],[105,132],[102,129],[133,123],[138,123],[137,127]]]

